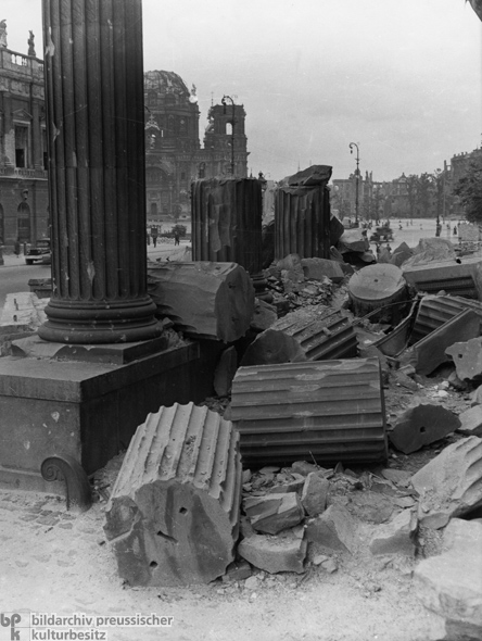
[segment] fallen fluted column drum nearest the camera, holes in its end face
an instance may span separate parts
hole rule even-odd
[[[106,506],[107,539],[131,586],[206,583],[234,558],[241,499],[239,435],[193,403],[149,414]]]

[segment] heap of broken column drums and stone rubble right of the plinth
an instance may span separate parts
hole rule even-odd
[[[436,284],[442,257],[451,275],[447,261],[460,263],[446,243],[401,247],[393,261],[354,273],[344,259],[366,250],[359,237],[344,234],[344,253],[332,247],[333,260],[289,254],[268,266],[272,304],[256,299],[250,335],[219,359],[218,395],[204,405],[240,435],[240,533],[227,537],[232,562],[226,567],[227,552],[204,579],[217,574],[253,592],[272,586],[272,575],[301,585],[353,564],[415,570],[421,601],[445,617],[453,638],[475,640],[482,581],[469,552],[460,567],[456,555],[467,531],[475,558],[482,536],[482,304],[427,296],[421,277],[407,284],[405,275],[424,265]],[[414,266],[405,269],[403,259]],[[342,351],[330,355],[327,345]],[[144,574],[149,583],[152,568]],[[383,589],[366,583],[367,595]],[[457,598],[445,611],[451,591]]]

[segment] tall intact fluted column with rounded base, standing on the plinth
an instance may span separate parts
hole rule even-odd
[[[53,296],[39,336],[158,336],[147,294],[141,0],[42,0]]]

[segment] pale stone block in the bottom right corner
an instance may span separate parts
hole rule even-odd
[[[445,639],[482,639],[482,524],[454,518],[442,554],[416,567],[414,582],[423,605],[446,619]]]

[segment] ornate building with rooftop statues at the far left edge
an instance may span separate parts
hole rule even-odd
[[[0,23],[0,244],[49,236],[43,62],[7,47]]]

